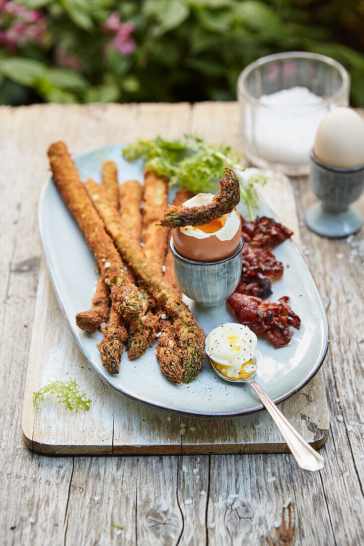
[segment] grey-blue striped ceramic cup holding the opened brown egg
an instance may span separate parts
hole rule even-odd
[[[171,238],[169,247],[174,276],[182,292],[204,305],[215,305],[231,296],[242,274],[243,246],[243,239],[240,239],[237,250],[231,256],[216,262],[194,262],[175,250]]]

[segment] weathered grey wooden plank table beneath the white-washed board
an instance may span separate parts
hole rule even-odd
[[[184,132],[239,147],[237,104],[0,108],[2,544],[364,543],[364,240],[362,232],[347,240],[309,232],[303,215],[314,196],[307,179],[293,180],[301,238],[331,330],[323,366],[331,413],[321,450],[324,470],[302,472],[290,455],[277,454],[52,458],[31,452],[22,441],[46,147],[63,139],[77,154],[95,142]],[[364,212],[363,200],[356,206]],[[198,492],[192,472],[183,472],[197,466]],[[268,474],[277,477],[274,483],[267,482]],[[201,484],[206,495],[199,495]],[[239,498],[231,498],[232,491]],[[185,505],[186,498],[195,502]]]

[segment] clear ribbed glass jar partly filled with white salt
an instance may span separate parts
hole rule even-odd
[[[262,57],[238,79],[243,152],[258,167],[308,174],[309,152],[328,110],[349,104],[345,68],[324,55]]]

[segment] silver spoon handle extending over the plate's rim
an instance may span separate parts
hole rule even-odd
[[[287,421],[283,413],[278,410],[278,407],[272,402],[259,383],[254,379],[249,379],[246,383],[249,383],[250,387],[255,391],[257,396],[259,396],[269,415],[277,425],[280,434],[286,441],[286,444],[290,448],[298,465],[301,468],[304,468],[304,470],[310,470],[312,472],[321,470],[325,464],[324,458],[316,452],[300,434],[298,434],[297,430],[293,428],[289,421]]]

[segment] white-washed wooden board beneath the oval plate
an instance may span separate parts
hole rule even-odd
[[[285,176],[270,175],[262,197],[301,246],[296,203]],[[75,378],[92,400],[86,413],[64,410],[54,396],[34,410],[32,394],[48,381]],[[281,403],[281,411],[315,448],[329,418],[322,374]],[[22,413],[26,445],[49,454],[284,453],[288,449],[266,411],[228,419],[197,419],[153,410],[109,388],[75,344],[58,307],[44,262],[40,269]]]

